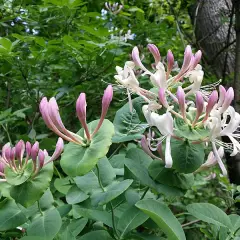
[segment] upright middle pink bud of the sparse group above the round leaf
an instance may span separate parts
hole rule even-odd
[[[86,122],[86,107],[87,107],[86,94],[81,93],[76,102],[76,112],[77,112],[78,119],[85,130],[87,139],[90,140],[91,137],[90,137],[90,133],[89,133],[87,122]]]

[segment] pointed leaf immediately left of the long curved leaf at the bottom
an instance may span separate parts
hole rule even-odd
[[[118,220],[117,229],[121,231],[120,239],[131,230],[143,224],[149,217],[135,206],[128,208]]]

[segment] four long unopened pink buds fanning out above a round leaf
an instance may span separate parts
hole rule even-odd
[[[77,112],[78,119],[85,131],[85,138],[82,138],[81,136],[65,128],[59,114],[59,109],[58,109],[56,99],[54,97],[50,98],[49,101],[47,100],[46,97],[44,97],[41,100],[39,108],[42,114],[42,118],[49,129],[51,129],[53,132],[55,132],[57,135],[59,135],[61,138],[65,139],[66,141],[73,142],[81,146],[87,146],[91,142],[91,139],[94,137],[94,135],[98,132],[98,130],[102,126],[102,123],[107,114],[109,105],[112,101],[112,97],[113,97],[113,88],[111,85],[109,85],[105,89],[104,95],[102,98],[102,113],[101,113],[100,120],[95,130],[92,133],[90,133],[87,126],[87,122],[86,122],[86,107],[87,107],[86,95],[85,93],[81,93],[79,95],[76,103],[76,112]]]

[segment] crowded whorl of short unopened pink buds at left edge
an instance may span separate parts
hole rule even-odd
[[[63,140],[59,138],[53,155],[49,157],[45,149],[41,150],[39,148],[38,142],[31,145],[30,142],[26,142],[25,144],[23,140],[20,140],[14,147],[11,147],[10,143],[5,144],[2,148],[2,155],[0,156],[0,181],[6,181],[4,174],[6,167],[11,168],[16,174],[21,174],[30,161],[32,161],[33,164],[31,173],[31,178],[33,179],[45,165],[61,155],[63,148]]]

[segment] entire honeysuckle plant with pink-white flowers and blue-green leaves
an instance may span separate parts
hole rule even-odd
[[[77,133],[65,127],[56,99],[43,97],[42,119],[59,136],[52,156],[38,142],[3,146],[1,236],[16,232],[22,240],[186,240],[192,239],[189,230],[198,228],[199,239],[240,236],[240,216],[229,201],[239,189],[228,183],[222,160],[224,151],[233,156],[240,150],[233,89],[202,86],[201,51],[193,54],[187,46],[179,69],[170,50],[166,58],[153,44],[148,50],[154,58],[152,70],[137,47],[133,61],[116,67],[114,88],[126,90],[129,101],[113,123],[106,119],[112,85],[99,104],[100,118],[89,123],[86,94],[80,93]],[[150,89],[141,87],[142,78],[145,85],[149,80]],[[231,142],[224,143],[222,136]],[[54,161],[58,158],[60,164]],[[214,168],[217,164],[220,169]],[[208,190],[219,179],[228,201],[199,203],[199,186]],[[209,191],[215,194],[213,187]],[[228,215],[219,207],[227,207]]]

